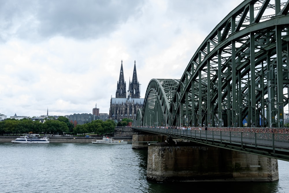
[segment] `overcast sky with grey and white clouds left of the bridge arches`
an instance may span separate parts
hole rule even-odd
[[[141,98],[152,78],[181,78],[238,0],[0,0],[0,113],[108,113],[123,60]]]

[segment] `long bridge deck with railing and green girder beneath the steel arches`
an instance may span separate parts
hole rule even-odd
[[[288,134],[153,127],[134,127],[134,129],[166,135],[171,138],[180,139],[181,141],[192,141],[198,144],[289,161]]]

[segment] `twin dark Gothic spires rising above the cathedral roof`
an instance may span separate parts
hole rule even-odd
[[[119,73],[119,80],[117,82],[117,89],[115,98],[140,98],[140,84],[136,73],[136,60],[134,60],[134,72],[132,80],[129,80],[129,88],[126,92],[126,82],[123,75],[123,60],[121,60],[121,71]]]

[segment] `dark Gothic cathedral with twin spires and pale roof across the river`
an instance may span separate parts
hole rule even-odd
[[[138,109],[142,109],[144,98],[140,98],[140,83],[136,74],[136,61],[134,61],[134,72],[132,80],[129,79],[128,90],[123,75],[123,61],[121,60],[121,71],[117,82],[115,98],[110,99],[109,119],[115,122],[123,118],[135,120]]]

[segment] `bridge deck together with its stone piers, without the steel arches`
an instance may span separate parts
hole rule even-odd
[[[277,181],[278,159],[289,161],[288,134],[226,128],[133,129],[137,131],[133,148],[142,146],[134,142],[158,141],[146,145],[147,179],[151,181]]]

